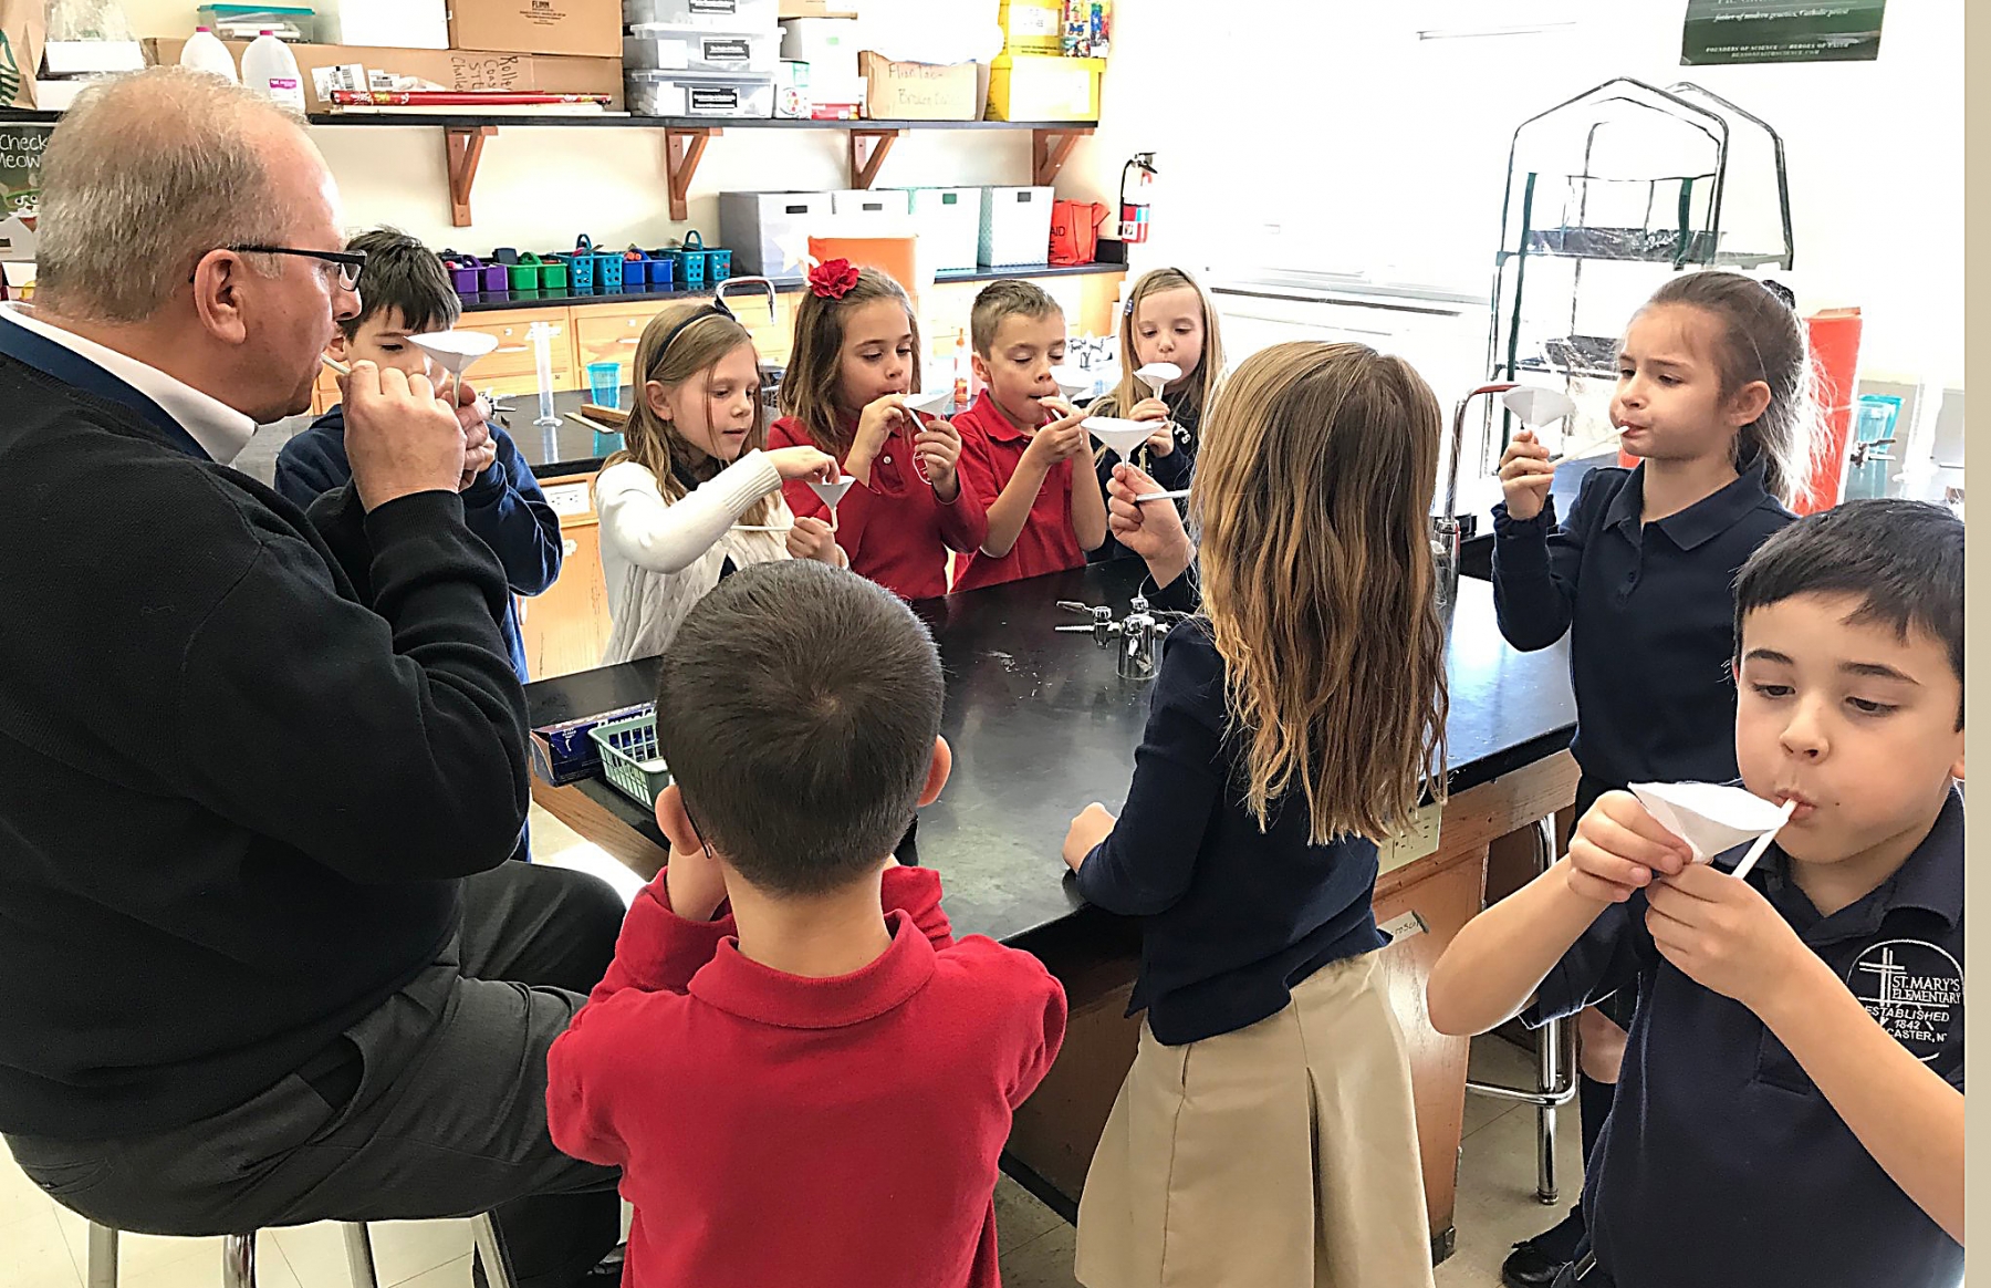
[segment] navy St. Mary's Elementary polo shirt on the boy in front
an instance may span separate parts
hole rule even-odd
[[[1728,868],[1738,852],[1718,862]],[[1820,916],[1770,846],[1748,882],[1881,1027],[1963,1089],[1963,796],[1891,878]],[[1881,1171],[1756,1013],[1672,967],[1645,894],[1597,918],[1529,1023],[1639,989],[1611,1119],[1583,1184],[1617,1288],[1949,1288],[1963,1248]]]

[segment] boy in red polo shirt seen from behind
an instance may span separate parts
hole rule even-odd
[[[657,685],[669,866],[548,1057],[553,1143],[623,1169],[625,1288],[994,1288],[996,1163],[1065,1033],[892,846],[932,802],[940,655],[890,591],[745,567]]]

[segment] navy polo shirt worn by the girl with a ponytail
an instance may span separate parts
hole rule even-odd
[[[1493,508],[1493,609],[1507,643],[1547,649],[1569,631],[1577,693],[1571,752],[1591,778],[1726,782],[1736,776],[1734,581],[1792,516],[1762,466],[1643,524],[1645,466],[1591,470],[1569,520]]]

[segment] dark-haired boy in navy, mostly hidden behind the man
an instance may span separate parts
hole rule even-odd
[[[438,380],[440,370],[430,366],[428,354],[410,344],[408,336],[446,330],[462,315],[462,301],[450,289],[442,261],[420,241],[394,229],[360,233],[346,249],[366,255],[360,313],[338,322],[340,334],[327,352],[340,362],[366,360]],[[496,424],[486,428],[488,450],[464,456],[464,524],[498,555],[516,595],[538,595],[559,577],[559,516],[546,502],[512,436]],[[277,454],[277,492],[307,510],[319,496],[344,488],[350,480],[344,406],[319,416]],[[510,597],[500,627],[520,683],[532,679],[526,673],[518,603]]]

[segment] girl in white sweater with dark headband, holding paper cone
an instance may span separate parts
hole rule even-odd
[[[601,573],[615,621],[601,665],[663,653],[735,567],[820,559],[846,567],[830,526],[794,518],[786,480],[834,480],[816,448],[767,452],[753,336],[723,305],[665,309],[635,348],[627,450],[595,480]]]

